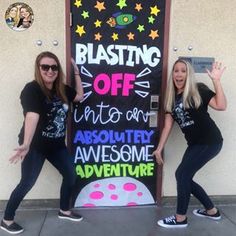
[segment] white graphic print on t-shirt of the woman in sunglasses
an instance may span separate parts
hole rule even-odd
[[[47,138],[60,138],[65,136],[65,124],[68,105],[61,101],[50,103],[50,109],[47,113],[47,125],[42,131],[42,136]]]

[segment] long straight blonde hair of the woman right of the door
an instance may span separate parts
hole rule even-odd
[[[174,72],[175,65],[179,62],[184,63],[187,70],[187,78],[186,78],[184,91],[183,91],[184,108],[188,109],[192,107],[192,108],[197,109],[202,103],[202,99],[198,91],[194,69],[192,65],[185,60],[178,59],[172,67],[172,71],[171,71],[168,84],[167,84],[167,89],[166,89],[166,94],[165,94],[165,111],[167,112],[171,112],[175,104],[176,88],[173,81],[173,72]]]

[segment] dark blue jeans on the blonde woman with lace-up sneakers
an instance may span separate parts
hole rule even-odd
[[[186,214],[191,194],[202,203],[205,209],[210,210],[214,207],[207,193],[199,184],[193,181],[193,177],[199,169],[220,152],[222,144],[190,145],[186,149],[182,162],[175,172],[177,180],[177,214]]]

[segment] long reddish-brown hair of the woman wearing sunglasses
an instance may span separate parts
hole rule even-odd
[[[65,75],[62,71],[62,67],[61,67],[61,63],[58,59],[58,57],[53,54],[52,52],[42,52],[40,53],[36,60],[35,60],[35,80],[37,81],[37,83],[39,84],[40,88],[42,89],[43,93],[45,94],[45,96],[48,98],[48,100],[51,100],[51,93],[50,90],[45,86],[45,84],[43,83],[43,79],[40,73],[40,61],[45,58],[52,58],[56,61],[57,66],[58,66],[58,76],[56,78],[56,80],[53,83],[53,90],[55,91],[56,95],[65,103],[68,104],[68,99],[66,97],[66,93],[65,93],[65,84],[63,83]]]

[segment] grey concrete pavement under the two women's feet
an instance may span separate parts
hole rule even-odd
[[[168,202],[168,203],[167,203]],[[0,218],[3,217],[5,203],[0,203]],[[191,203],[188,210],[188,227],[165,229],[157,225],[157,220],[175,212],[171,201],[162,206],[76,208],[83,216],[81,222],[59,219],[58,209],[48,206],[21,206],[16,214],[16,222],[25,231],[22,236],[234,236],[236,235],[236,203],[218,202],[222,219],[197,217],[192,210],[200,206]],[[0,229],[0,236],[10,234]]]

